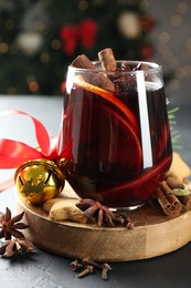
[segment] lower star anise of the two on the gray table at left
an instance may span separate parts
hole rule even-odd
[[[14,238],[6,240],[0,246],[0,255],[9,258],[12,257],[15,253],[32,253],[34,251],[34,248],[35,247],[31,241],[26,239]]]

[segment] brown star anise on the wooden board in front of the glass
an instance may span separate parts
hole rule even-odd
[[[115,214],[107,206],[102,205],[97,200],[81,199],[76,206],[84,212],[86,217],[94,217],[99,227],[103,224],[113,227],[114,222],[118,220]]]

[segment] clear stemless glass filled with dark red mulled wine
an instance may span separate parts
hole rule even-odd
[[[82,198],[114,208],[144,205],[172,158],[161,66],[117,61],[115,72],[68,66],[61,168]],[[109,79],[114,91],[103,88]]]

